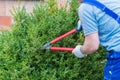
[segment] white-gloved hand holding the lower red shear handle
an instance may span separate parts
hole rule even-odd
[[[78,58],[83,58],[85,56],[87,56],[86,54],[84,54],[82,51],[81,51],[81,45],[77,45],[73,51],[72,51],[72,54],[74,54],[76,57]]]

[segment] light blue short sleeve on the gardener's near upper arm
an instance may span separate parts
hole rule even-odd
[[[85,3],[82,3],[78,8],[78,16],[82,22],[85,36],[98,32],[98,24],[93,11],[93,6]]]

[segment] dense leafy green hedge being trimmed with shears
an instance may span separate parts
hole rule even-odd
[[[52,39],[76,27],[78,2],[71,8],[58,9],[54,0],[37,5],[33,13],[25,8],[14,9],[12,31],[0,35],[1,80],[101,80],[106,62],[105,50],[100,49],[86,58],[71,53],[42,50]],[[75,33],[53,46],[75,47],[83,44],[82,32]]]

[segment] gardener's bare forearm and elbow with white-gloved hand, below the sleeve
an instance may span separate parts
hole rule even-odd
[[[78,57],[78,58],[83,58],[87,54],[94,53],[95,51],[98,50],[99,48],[99,37],[98,37],[98,32],[89,34],[85,36],[85,41],[83,45],[77,45],[72,53]]]

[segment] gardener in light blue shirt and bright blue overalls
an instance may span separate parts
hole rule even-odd
[[[98,1],[120,15],[119,0]],[[72,53],[78,58],[83,58],[98,50],[101,44],[108,51],[104,80],[120,80],[120,24],[99,8],[87,3],[80,5],[78,15],[85,41],[83,45],[77,45]]]

